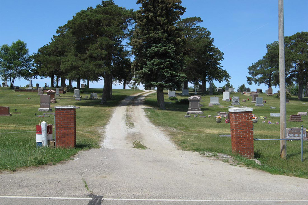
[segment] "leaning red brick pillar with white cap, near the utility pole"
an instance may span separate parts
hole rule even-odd
[[[232,152],[254,158],[252,108],[230,108]]]

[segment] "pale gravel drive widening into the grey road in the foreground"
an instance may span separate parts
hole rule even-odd
[[[62,164],[0,174],[0,204],[308,203],[308,179],[176,149],[146,118],[143,98],[128,97],[115,109],[102,148]],[[132,148],[135,140],[148,149]]]

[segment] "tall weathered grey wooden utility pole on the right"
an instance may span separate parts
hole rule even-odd
[[[279,99],[280,99],[280,139],[286,138],[286,69],[283,30],[283,0],[278,0],[278,45],[279,45]],[[286,140],[280,140],[280,157],[286,159]]]

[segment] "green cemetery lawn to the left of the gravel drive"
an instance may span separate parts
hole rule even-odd
[[[71,149],[49,149],[36,148],[35,131],[36,124],[46,121],[47,124],[54,124],[54,116],[36,117],[42,115],[38,112],[40,96],[36,92],[14,92],[8,88],[0,88],[0,106],[9,106],[12,116],[0,116],[0,133],[20,132],[0,134],[0,170],[14,171],[20,167],[38,166],[43,164],[56,164],[63,160],[68,160],[83,149],[98,148],[99,141],[103,133],[98,132],[109,121],[112,110],[126,96],[140,93],[140,90],[113,89],[113,99],[107,105],[100,105],[100,100],[85,99],[90,97],[90,93],[95,92],[98,97],[102,97],[102,89],[82,89],[81,101],[71,99],[61,99],[61,97],[71,97],[74,90],[61,94],[56,98],[57,103],[51,104],[52,112],[54,106],[75,105],[76,109],[76,132],[77,146]],[[88,93],[88,94],[87,94]],[[16,109],[16,111],[15,111]]]

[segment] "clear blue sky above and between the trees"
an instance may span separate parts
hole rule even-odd
[[[138,10],[136,0],[114,0],[127,9]],[[11,45],[18,39],[27,44],[30,54],[46,45],[59,26],[100,0],[0,0],[0,45]],[[278,41],[278,0],[182,0],[186,12],[182,18],[201,17],[199,25],[207,28],[214,44],[224,52],[221,65],[230,74],[230,83],[245,83],[252,90],[266,85],[248,85],[247,68],[266,53],[266,44]],[[308,31],[308,0],[284,0],[284,35]],[[50,79],[32,79],[32,84],[50,84]],[[219,87],[226,82],[216,82]],[[26,85],[16,80],[14,85]],[[73,84],[75,86],[75,84]],[[207,84],[207,87],[209,85]],[[90,83],[102,88],[103,81]],[[122,88],[113,85],[113,88]],[[278,90],[274,89],[274,92]]]

